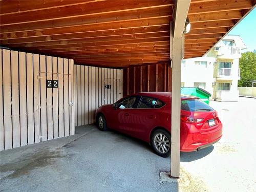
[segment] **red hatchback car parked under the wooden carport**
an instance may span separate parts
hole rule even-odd
[[[99,130],[107,127],[150,143],[156,154],[170,154],[172,93],[145,92],[126,96],[96,111]],[[194,96],[181,96],[180,151],[210,146],[222,137],[217,111]]]

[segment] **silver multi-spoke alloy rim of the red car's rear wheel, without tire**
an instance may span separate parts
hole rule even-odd
[[[155,135],[154,145],[156,147],[156,150],[163,154],[168,153],[170,148],[169,139],[162,133],[158,133]]]

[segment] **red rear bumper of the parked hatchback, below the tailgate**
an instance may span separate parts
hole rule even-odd
[[[188,133],[185,142],[182,144],[181,152],[193,152],[208,147],[218,142],[222,137],[222,124],[216,130],[209,133]]]

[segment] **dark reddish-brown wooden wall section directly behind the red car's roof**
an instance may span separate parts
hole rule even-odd
[[[123,69],[123,95],[138,92],[170,92],[172,72],[169,63],[155,63]]]

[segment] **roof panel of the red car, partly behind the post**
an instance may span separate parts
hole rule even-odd
[[[154,97],[163,101],[169,101],[170,98],[172,98],[172,92],[140,92],[140,93],[134,93],[131,95],[141,95],[141,96],[147,96],[147,97]],[[131,96],[129,95],[129,96]],[[191,96],[191,95],[181,95],[181,100],[187,100],[187,99],[199,99],[199,97]]]

